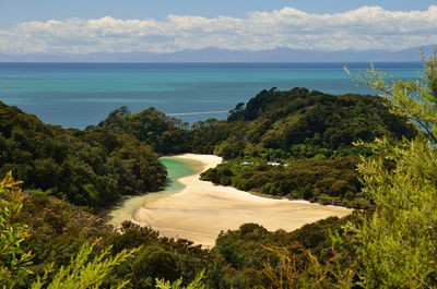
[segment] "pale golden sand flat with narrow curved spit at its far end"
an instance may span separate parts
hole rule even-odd
[[[215,167],[222,158],[213,155],[185,154],[175,158],[201,161],[203,170]],[[134,219],[160,230],[162,236],[185,238],[213,246],[221,230],[235,230],[246,222],[260,224],[269,230],[292,231],[329,216],[343,217],[352,210],[322,206],[306,201],[257,196],[231,186],[199,180],[200,173],[180,178],[186,188],[140,207]]]

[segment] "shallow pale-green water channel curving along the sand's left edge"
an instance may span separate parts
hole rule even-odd
[[[200,172],[202,164],[196,160],[177,157],[162,157],[161,162],[167,168],[167,185],[165,190],[144,195],[130,196],[114,208],[106,218],[109,224],[119,227],[123,220],[133,220],[135,212],[144,204],[154,202],[164,195],[180,192],[185,186],[178,179]]]

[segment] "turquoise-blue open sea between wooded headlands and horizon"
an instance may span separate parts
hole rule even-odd
[[[196,122],[225,119],[262,89],[307,87],[329,94],[376,94],[353,82],[369,63],[0,63],[0,100],[44,122],[84,129],[114,109],[149,107]],[[417,77],[421,62],[375,63],[398,77]]]

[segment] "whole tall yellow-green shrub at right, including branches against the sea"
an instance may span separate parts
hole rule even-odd
[[[346,229],[358,253],[357,285],[365,288],[437,286],[437,50],[423,62],[418,81],[389,84],[374,67],[358,79],[421,129],[412,141],[377,139],[369,145],[376,157],[358,166],[376,210]]]

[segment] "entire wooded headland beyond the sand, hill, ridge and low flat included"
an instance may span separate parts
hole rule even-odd
[[[363,208],[356,172],[358,155],[370,149],[353,142],[386,135],[400,140],[417,131],[389,112],[375,96],[334,96],[306,88],[262,91],[238,104],[227,121],[187,123],[150,108],[130,113],[122,107],[97,128],[125,132],[158,153],[216,154],[227,164],[210,169],[203,180],[274,196]],[[97,130],[88,128],[91,131]],[[271,166],[268,162],[286,166]],[[243,162],[248,162],[241,165]]]

